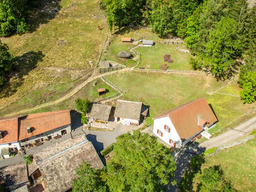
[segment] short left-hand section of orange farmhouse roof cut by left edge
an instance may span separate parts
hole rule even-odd
[[[17,142],[17,122],[18,117],[1,117],[0,130],[3,131],[3,138],[0,139],[0,144],[8,142]]]

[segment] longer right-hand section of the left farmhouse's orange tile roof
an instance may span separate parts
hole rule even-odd
[[[71,124],[70,110],[41,112],[19,118],[19,141]],[[32,132],[28,134],[27,127]]]

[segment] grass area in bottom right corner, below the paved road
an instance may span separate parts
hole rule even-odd
[[[210,165],[221,165],[225,178],[232,181],[239,191],[255,191],[256,186],[256,139],[245,144],[219,151],[205,158],[201,170]],[[195,176],[194,183],[196,183]]]

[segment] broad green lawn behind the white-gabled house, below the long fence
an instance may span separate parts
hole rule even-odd
[[[216,81],[211,76],[129,72],[111,75],[109,78],[127,92],[122,99],[140,101],[150,106],[149,119],[185,102],[205,97],[219,120],[213,127],[214,132],[219,130],[216,134],[227,130],[232,123],[242,121],[245,114],[254,108],[254,105],[243,105],[239,97],[206,93],[227,83]]]

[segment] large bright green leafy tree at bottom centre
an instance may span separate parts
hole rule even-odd
[[[155,137],[140,131],[121,135],[114,154],[102,175],[110,191],[163,191],[169,181],[175,183],[170,150]]]

